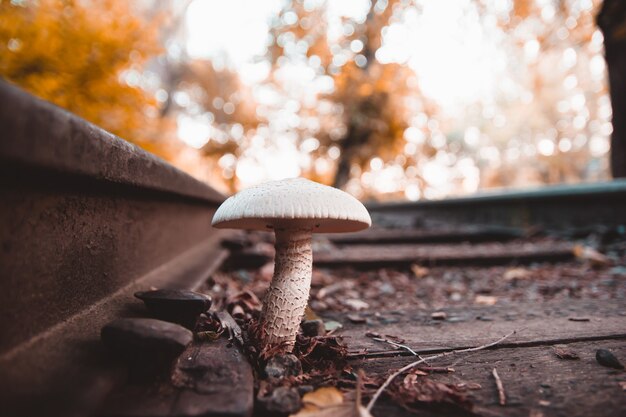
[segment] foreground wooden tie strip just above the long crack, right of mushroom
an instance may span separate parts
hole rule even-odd
[[[375,332],[403,340],[420,353],[479,346],[516,330],[504,346],[532,346],[597,339],[626,338],[626,310],[616,301],[570,302],[544,305],[511,304],[439,310],[446,320],[431,318],[432,311],[361,313],[366,324],[351,323],[344,316],[332,317],[345,326],[344,336],[352,354],[386,356],[408,354],[390,344],[366,336]],[[588,321],[572,321],[572,318]]]

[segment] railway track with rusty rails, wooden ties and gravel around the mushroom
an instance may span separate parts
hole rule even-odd
[[[147,316],[133,293],[151,287],[202,288],[214,301],[220,291],[262,291],[267,237],[212,229],[219,193],[4,83],[0,128],[2,414],[249,415],[251,369],[224,341],[211,355],[248,388],[233,391],[228,380],[205,375],[204,391],[181,393],[167,383],[129,383],[127,367],[101,346],[100,329]],[[410,361],[367,332],[403,336],[428,353],[525,328],[434,378],[479,384],[472,401],[488,415],[626,412],[624,374],[592,355],[605,347],[626,358],[626,181],[369,209],[371,231],[315,242],[311,306],[343,326],[337,332],[355,367],[384,375]],[[581,258],[577,251],[590,247],[609,262]],[[505,278],[516,269],[519,276]],[[233,288],[218,289],[219,276]],[[558,345],[581,359],[558,359]],[[215,364],[191,353],[198,369]],[[507,408],[497,404],[493,367],[512,398]],[[405,413],[390,401],[374,409]]]

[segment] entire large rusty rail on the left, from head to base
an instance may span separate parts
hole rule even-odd
[[[4,82],[0,132],[1,414],[88,414],[119,375],[100,327],[136,290],[206,280],[224,197]]]

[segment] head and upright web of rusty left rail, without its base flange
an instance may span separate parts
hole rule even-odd
[[[213,233],[223,196],[0,82],[0,354]]]

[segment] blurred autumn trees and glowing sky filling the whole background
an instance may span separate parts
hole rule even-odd
[[[441,2],[372,0],[332,15],[339,1],[284,1],[259,16],[267,39],[244,64],[262,67],[254,81],[231,51],[189,52],[190,11],[219,12],[219,2],[2,1],[0,76],[225,192],[294,175],[365,199],[608,178],[609,137],[617,149],[624,129],[612,117],[621,95],[607,89],[600,0],[451,2],[435,17],[461,32],[439,38],[415,29]],[[442,46],[471,30],[489,53]],[[394,44],[394,31],[412,38]],[[474,61],[487,62],[474,73],[498,79],[464,77]],[[428,91],[439,82],[458,99],[459,80],[495,92],[479,88],[457,111]]]

